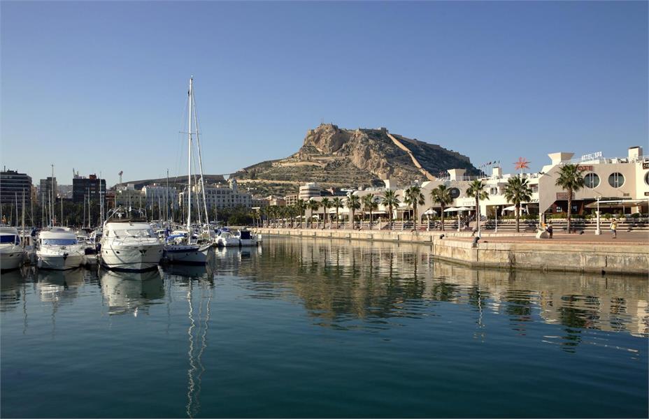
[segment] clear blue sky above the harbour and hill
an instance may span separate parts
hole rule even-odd
[[[108,184],[207,173],[385,126],[479,166],[648,147],[648,3],[2,1],[1,164]],[[649,150],[648,150],[649,151]]]

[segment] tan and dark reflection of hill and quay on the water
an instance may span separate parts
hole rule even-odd
[[[534,321],[563,325],[568,351],[583,329],[649,335],[647,281],[637,277],[476,270],[434,260],[421,245],[273,237],[264,248],[263,259],[230,258],[228,268],[250,279],[242,286],[251,296],[297,297],[318,325],[377,327],[434,316],[448,302],[477,311],[480,329],[485,311],[507,316],[520,335]]]

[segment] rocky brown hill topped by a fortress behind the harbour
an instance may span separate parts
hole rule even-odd
[[[465,168],[477,172],[466,156],[380,129],[341,129],[321,124],[309,130],[304,145],[286,159],[264,161],[233,176],[253,193],[297,193],[297,185],[323,187],[382,185],[390,178],[400,185],[433,179],[439,172]]]

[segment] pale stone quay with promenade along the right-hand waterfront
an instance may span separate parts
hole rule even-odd
[[[430,247],[432,256],[472,267],[528,269],[560,272],[597,272],[647,276],[649,235],[555,234],[539,240],[531,233],[483,233],[476,245],[471,233],[443,231],[328,230],[256,228],[264,235],[317,237],[323,239],[403,242]],[[444,235],[441,238],[441,235]]]

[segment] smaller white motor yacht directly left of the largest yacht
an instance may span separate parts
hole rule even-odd
[[[85,263],[83,246],[74,232],[60,227],[41,231],[36,258],[41,269],[68,270]]]

